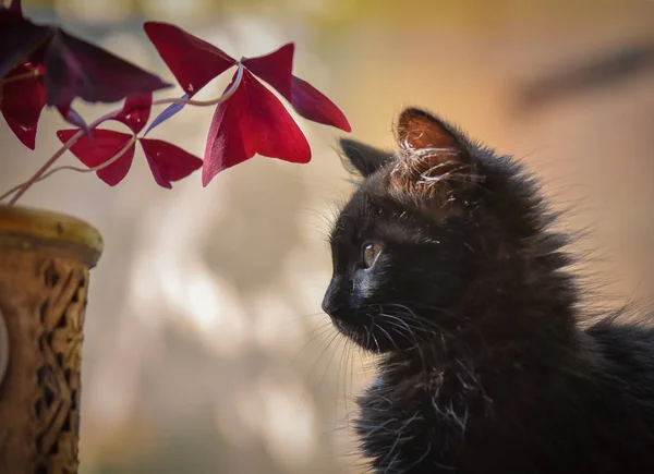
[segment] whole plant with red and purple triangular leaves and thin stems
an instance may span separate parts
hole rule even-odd
[[[60,130],[61,148],[24,183],[0,200],[13,205],[36,182],[69,169],[95,172],[114,186],[129,173],[141,144],[157,184],[172,183],[202,168],[203,186],[220,171],[254,155],[306,163],[311,147],[282,102],[262,83],[279,93],[306,120],[350,132],[339,108],[311,84],[292,73],[293,44],[266,56],[237,61],[214,45],[178,26],[147,22],[145,33],[184,90],[180,98],[153,99],[170,85],[109,51],[86,42],[59,26],[37,25],[23,15],[21,1],[0,0],[0,111],[16,137],[35,148],[38,121],[45,107],[55,107],[74,129]],[[231,83],[213,100],[193,97],[210,81],[235,68]],[[116,102],[120,108],[86,123],[72,108],[75,99]],[[152,108],[168,105],[146,129]],[[215,107],[204,160],[166,141],[146,138],[157,125],[185,106]],[[102,129],[107,121],[126,131]],[[145,132],[143,132],[145,130]],[[71,151],[86,168],[55,167]]]

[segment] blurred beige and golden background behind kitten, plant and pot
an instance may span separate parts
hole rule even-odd
[[[235,58],[295,41],[295,74],[341,107],[353,137],[390,147],[397,114],[420,106],[516,155],[571,209],[560,224],[579,235],[589,307],[652,301],[654,1],[23,3],[172,82],[146,20]],[[109,110],[76,107],[87,120]],[[187,107],[155,137],[202,156],[211,113]],[[81,473],[363,472],[349,426],[374,360],[320,312],[326,234],[351,184],[341,134],[300,124],[307,166],[255,157],[207,189],[195,173],[167,191],[137,151],[116,189],[61,172],[22,199],[86,219],[106,241],[86,317]],[[60,127],[46,111],[29,153],[0,125],[0,189],[57,149]]]

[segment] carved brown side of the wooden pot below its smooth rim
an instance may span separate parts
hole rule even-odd
[[[76,474],[88,267],[0,248],[9,365],[0,385],[0,474]]]

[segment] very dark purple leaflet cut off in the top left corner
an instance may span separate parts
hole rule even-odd
[[[53,28],[35,25],[14,8],[0,8],[0,78],[3,78],[39,45],[48,41]]]

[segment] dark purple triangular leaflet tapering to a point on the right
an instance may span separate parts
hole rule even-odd
[[[159,77],[58,28],[45,54],[48,105],[81,97],[116,102],[169,86]]]

